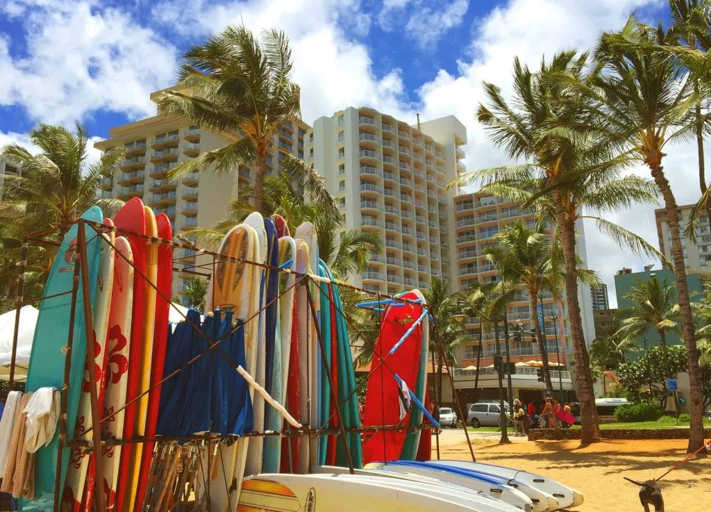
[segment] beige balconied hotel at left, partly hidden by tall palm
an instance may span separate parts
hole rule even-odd
[[[154,92],[155,99],[161,91]],[[309,125],[301,121],[284,122],[274,136],[274,149],[267,157],[267,172],[276,174],[285,155],[303,157],[304,133]],[[181,162],[194,158],[201,151],[211,151],[237,140],[235,134],[215,134],[191,125],[188,119],[154,116],[124,124],[109,130],[109,139],[97,142],[102,151],[120,147],[124,159],[112,179],[100,185],[102,198],[127,201],[139,197],[153,208],[156,215],[165,213],[171,219],[173,233],[202,226],[214,227],[225,218],[232,199],[237,198],[240,183],[251,183],[254,170],[240,166],[235,173],[215,174],[212,171],[193,172],[178,179],[169,179],[168,172]],[[209,272],[199,267],[191,250],[179,250],[173,255],[176,266]],[[179,272],[173,279],[173,294],[180,294],[187,279],[196,274]]]

